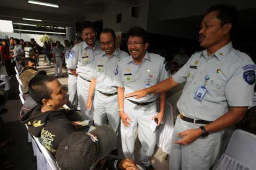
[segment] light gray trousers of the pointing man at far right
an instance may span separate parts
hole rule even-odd
[[[199,137],[188,145],[174,144],[181,138],[177,136],[178,133],[200,126],[202,124],[186,122],[177,117],[170,151],[170,170],[209,170],[213,166],[219,156],[223,130],[211,133],[207,137]]]

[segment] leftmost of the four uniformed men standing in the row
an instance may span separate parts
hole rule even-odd
[[[101,52],[99,44],[96,42],[96,31],[92,22],[85,21],[82,23],[81,37],[84,41],[76,44],[70,51],[67,67],[77,77],[77,95],[82,118],[92,120],[93,113],[86,108],[86,103],[92,78],[91,70],[94,56]]]

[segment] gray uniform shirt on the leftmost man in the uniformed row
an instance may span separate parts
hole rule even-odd
[[[84,79],[91,80],[92,63],[94,56],[99,52],[101,52],[101,49],[98,42],[96,42],[93,49],[90,49],[84,41],[78,43],[70,52],[67,67],[70,69],[77,69],[77,74],[79,76]]]

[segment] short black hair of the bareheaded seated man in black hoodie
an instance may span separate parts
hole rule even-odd
[[[48,89],[46,83],[57,80],[53,76],[49,75],[36,75],[28,83],[28,93],[34,99],[34,101],[41,106],[43,105],[42,100],[51,98],[52,90]]]

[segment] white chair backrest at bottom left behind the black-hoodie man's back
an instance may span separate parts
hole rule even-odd
[[[38,145],[39,150],[42,152],[43,156],[45,157],[48,165],[50,166],[50,168],[52,168],[52,170],[58,170],[57,165],[55,163],[55,158],[52,155],[52,153],[50,153],[45,146],[43,146],[40,141],[38,140],[37,137],[33,136],[36,145]]]

